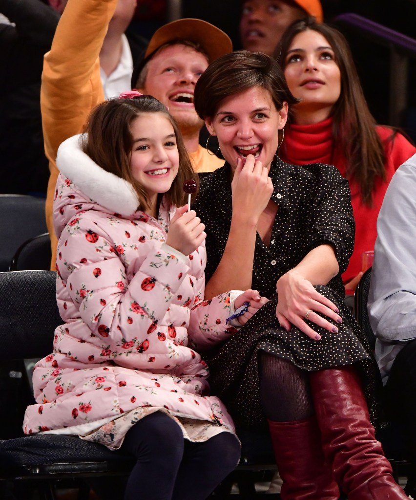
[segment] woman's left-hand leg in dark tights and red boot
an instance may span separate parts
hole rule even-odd
[[[338,485],[322,451],[308,373],[261,351],[260,398],[283,479],[282,500],[338,500]]]

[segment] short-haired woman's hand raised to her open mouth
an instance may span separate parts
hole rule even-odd
[[[256,161],[253,154],[247,156],[244,164],[237,158],[231,190],[233,214],[247,214],[257,224],[273,193],[268,168]]]

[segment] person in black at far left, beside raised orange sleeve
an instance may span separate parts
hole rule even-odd
[[[1,193],[46,193],[40,75],[65,6],[64,1],[49,3],[0,0],[0,12],[9,20],[0,22]]]

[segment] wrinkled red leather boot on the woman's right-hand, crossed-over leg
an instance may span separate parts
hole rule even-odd
[[[314,371],[310,380],[325,457],[348,500],[409,500],[375,437],[355,368]]]

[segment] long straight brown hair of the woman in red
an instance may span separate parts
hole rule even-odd
[[[376,131],[376,120],[370,112],[349,44],[338,29],[317,23],[308,17],[291,24],[276,47],[275,56],[286,67],[286,55],[293,38],[308,29],[321,33],[331,45],[341,73],[341,94],[334,104],[333,136],[346,159],[346,174],[360,186],[361,196],[371,206],[376,177],[386,179],[386,153]],[[392,129],[393,139],[396,132]]]

